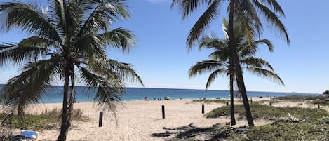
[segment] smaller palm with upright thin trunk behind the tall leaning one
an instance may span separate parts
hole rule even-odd
[[[214,52],[210,53],[211,60],[203,60],[197,62],[189,69],[189,76],[196,76],[197,74],[203,74],[206,72],[211,72],[206,84],[206,90],[209,88],[211,83],[215,81],[218,75],[224,74],[229,76],[229,88],[231,97],[231,125],[235,125],[236,121],[234,118],[234,79],[236,79],[236,69],[229,53],[229,36],[228,36],[228,21],[223,20],[223,32],[225,38],[221,39],[213,34],[208,34],[204,36],[199,43],[199,50],[205,47],[208,49],[213,49]],[[238,55],[242,68],[246,69],[248,72],[257,74],[258,76],[264,76],[269,80],[276,81],[284,85],[281,78],[275,74],[273,67],[269,65],[269,62],[263,60],[262,58],[254,57],[255,51],[257,51],[257,45],[264,43],[269,47],[269,51],[273,51],[273,46],[271,42],[267,39],[261,39],[253,43],[254,46],[249,46],[246,41],[245,35],[241,32],[239,25],[234,26],[236,29],[234,39],[236,41],[236,46],[238,49]]]

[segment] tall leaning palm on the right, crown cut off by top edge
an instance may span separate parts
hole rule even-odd
[[[229,13],[229,39],[234,39],[234,19],[241,22],[241,26],[245,29],[246,40],[252,44],[263,29],[263,23],[267,22],[269,27],[274,27],[283,35],[287,43],[290,43],[286,27],[281,22],[279,16],[284,17],[283,9],[276,0],[229,0],[227,3],[224,0],[173,0],[171,7],[178,5],[182,11],[182,17],[187,18],[199,8],[206,7],[201,17],[196,21],[187,37],[187,47],[192,48],[194,43],[199,39],[204,30],[220,15],[220,5],[227,4],[227,13]],[[262,16],[264,20],[260,20]],[[262,22],[264,21],[264,22]],[[242,70],[237,54],[236,42],[229,41],[230,54],[233,58],[236,67],[237,84],[243,98],[243,105],[246,110],[246,117],[249,126],[254,126],[253,117],[250,112],[246,87],[244,85]]]

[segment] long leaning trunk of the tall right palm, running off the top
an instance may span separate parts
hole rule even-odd
[[[246,116],[247,116],[247,121],[249,126],[254,126],[253,123],[253,116],[250,112],[250,107],[249,107],[249,102],[248,102],[248,97],[247,97],[247,92],[246,92],[246,87],[244,85],[243,81],[243,76],[242,76],[242,70],[240,66],[240,61],[238,58],[237,50],[236,50],[236,43],[234,40],[234,29],[233,29],[233,18],[234,18],[234,7],[235,7],[235,0],[231,0],[230,2],[230,7],[229,7],[229,48],[230,52],[234,61],[234,65],[236,67],[236,80],[238,83],[238,87],[242,96],[243,100],[243,106],[246,111]]]

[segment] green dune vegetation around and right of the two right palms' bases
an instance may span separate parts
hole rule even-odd
[[[250,105],[254,119],[270,119],[263,126],[232,128],[213,126],[185,130],[173,140],[328,140],[329,113],[324,109],[301,107],[270,107],[255,102]],[[243,105],[235,105],[235,112],[244,117]],[[288,121],[288,113],[299,121]],[[208,118],[229,116],[229,106],[219,107],[205,114]],[[197,132],[196,132],[197,131]],[[192,134],[194,133],[194,134]]]

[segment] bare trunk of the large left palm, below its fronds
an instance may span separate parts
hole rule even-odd
[[[67,62],[68,64],[68,62]],[[67,65],[68,66],[68,65]],[[60,135],[58,135],[58,141],[65,141],[69,128],[69,112],[67,108],[67,99],[69,92],[69,67],[65,68],[64,72],[64,93],[63,93],[63,107],[62,107],[62,124],[60,125]]]

